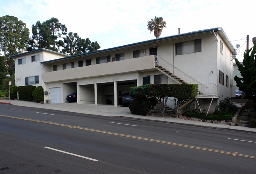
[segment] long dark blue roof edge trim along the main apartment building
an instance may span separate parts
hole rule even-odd
[[[127,44],[127,45],[123,45],[123,46],[107,48],[107,49],[104,49],[104,50],[98,50],[98,51],[95,51],[95,52],[89,52],[89,53],[83,53],[83,54],[78,54],[78,55],[74,55],[74,56],[62,57],[62,58],[59,58],[59,59],[44,61],[44,62],[40,62],[40,63],[48,63],[48,62],[58,61],[58,60],[67,59],[67,58],[71,58],[71,57],[78,57],[78,56],[83,56],[83,55],[87,55],[87,54],[93,54],[93,53],[98,53],[98,52],[104,52],[104,51],[124,48],[124,47],[127,47],[127,46],[134,46],[134,45],[148,43],[148,42],[153,42],[153,41],[160,41],[160,40],[163,40],[163,39],[170,39],[170,38],[173,38],[173,37],[180,37],[180,36],[184,36],[184,35],[191,35],[191,34],[197,34],[197,33],[203,33],[203,32],[210,32],[210,31],[214,31],[214,32],[222,31],[224,36],[226,37],[226,39],[228,40],[228,42],[232,46],[232,48],[234,48],[233,45],[231,44],[231,42],[229,41],[228,37],[226,36],[226,33],[223,31],[223,29],[221,27],[218,27],[218,28],[211,28],[211,29],[206,29],[206,30],[193,31],[193,32],[183,33],[183,34],[178,34],[178,35],[172,35],[172,36],[167,36],[167,37],[161,37],[161,38],[158,38],[158,39],[151,39],[151,40],[137,42],[137,43],[132,43],[132,44]]]

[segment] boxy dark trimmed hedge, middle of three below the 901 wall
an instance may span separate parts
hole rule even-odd
[[[32,85],[18,86],[17,92],[19,93],[19,100],[33,101],[32,92],[34,89],[35,86]]]

